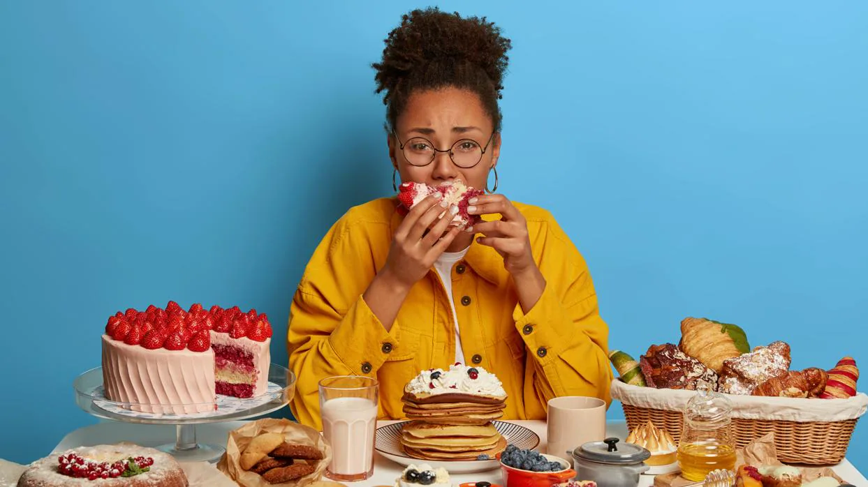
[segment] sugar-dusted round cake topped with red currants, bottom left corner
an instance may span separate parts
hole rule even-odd
[[[171,455],[138,445],[82,446],[30,465],[18,487],[187,487],[187,476]]]

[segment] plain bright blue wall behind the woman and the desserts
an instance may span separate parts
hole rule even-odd
[[[286,363],[314,246],[391,193],[369,64],[415,6],[0,3],[0,458],[95,421],[71,384],[118,309],[255,307]],[[704,315],[868,363],[868,4],[442,6],[514,42],[500,187],[586,256],[611,347]]]

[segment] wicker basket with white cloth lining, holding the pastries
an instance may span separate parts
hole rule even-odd
[[[617,379],[612,383],[612,397],[621,401],[631,431],[651,421],[672,434],[676,443],[681,438],[681,407],[692,393],[629,386]],[[851,399],[728,397],[735,404],[733,439],[736,447],[742,448],[766,433],[773,433],[780,461],[810,465],[838,464],[844,459],[856,422],[868,406],[868,396],[863,393]],[[758,406],[759,402],[765,406]],[[791,419],[774,418],[775,414],[768,414],[768,405],[775,404],[786,409],[782,417]],[[806,410],[805,414],[799,414],[800,407]],[[835,420],[818,420],[824,408],[828,410],[829,417]],[[811,411],[808,412],[808,409]]]

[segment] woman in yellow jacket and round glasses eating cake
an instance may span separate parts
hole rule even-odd
[[[503,381],[505,419],[545,418],[556,396],[608,404],[608,328],[587,265],[548,211],[494,193],[509,39],[484,18],[429,9],[385,43],[373,67],[395,172],[490,188],[468,208],[483,223],[450,226],[456,210],[434,197],[405,217],[380,198],[340,218],[293,299],[293,414],[320,427],[319,380],[356,374],[378,378],[380,417],[399,419],[404,385],[456,361]]]

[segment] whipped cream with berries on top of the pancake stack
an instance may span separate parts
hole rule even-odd
[[[476,379],[470,376],[470,369],[476,371]],[[431,379],[432,374],[435,379]],[[495,374],[483,367],[468,367],[464,364],[451,365],[449,370],[442,368],[424,370],[407,384],[406,390],[414,394],[465,393],[506,397],[503,384]]]

